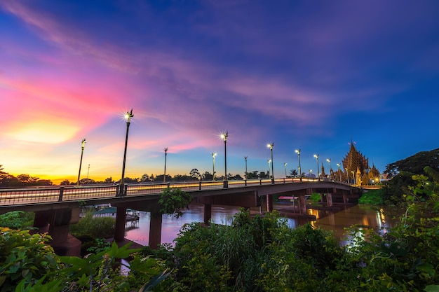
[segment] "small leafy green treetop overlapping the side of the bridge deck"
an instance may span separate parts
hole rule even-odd
[[[175,218],[180,218],[183,216],[181,209],[188,208],[191,201],[192,196],[180,188],[165,188],[160,194],[158,204],[161,206],[162,214],[170,214]]]

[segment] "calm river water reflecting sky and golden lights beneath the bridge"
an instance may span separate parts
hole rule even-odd
[[[274,209],[288,209],[292,211],[292,205],[273,204]],[[239,211],[239,207],[229,206],[212,206],[212,221],[219,224],[230,224],[231,218]],[[258,214],[263,209],[251,208],[251,214]],[[183,211],[184,215],[178,219],[172,216],[163,215],[163,223],[161,230],[161,243],[173,244],[173,240],[177,237],[182,226],[186,223],[203,222],[203,205],[191,204],[189,209]],[[308,214],[316,216],[316,221],[309,221],[306,218],[287,218],[290,228],[296,228],[306,222],[311,225],[323,229],[334,230],[335,235],[343,239],[345,228],[351,225],[367,225],[369,227],[389,228],[392,223],[387,220],[382,210],[377,211],[372,207],[365,205],[356,205],[348,209],[342,209],[337,212],[322,211],[317,209],[308,209]],[[149,243],[149,220],[148,212],[140,212],[140,220],[137,228],[130,229],[126,232],[126,238],[142,244],[144,246]],[[346,243],[342,240],[342,243]]]

